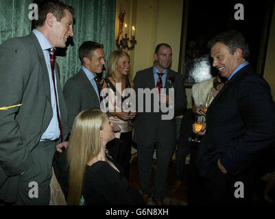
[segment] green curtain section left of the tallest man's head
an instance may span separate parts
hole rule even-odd
[[[29,4],[32,0],[0,0],[0,44],[9,38],[29,34]]]

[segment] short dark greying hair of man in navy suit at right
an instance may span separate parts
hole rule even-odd
[[[243,51],[243,58],[249,60],[250,51],[248,43],[239,31],[232,29],[218,34],[208,42],[208,47],[211,49],[217,42],[224,43],[231,54],[235,53],[237,48],[240,48]]]

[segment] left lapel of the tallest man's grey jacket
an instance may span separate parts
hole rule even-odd
[[[42,51],[42,48],[40,47],[40,44],[36,38],[36,36],[31,33],[29,34],[29,37],[32,38],[32,42],[34,42],[34,46],[36,47],[36,53],[38,54],[38,60],[40,62],[40,66],[42,66],[42,71],[39,72],[40,77],[43,81],[43,87],[47,96],[47,99],[49,103],[51,103],[51,90],[49,86],[49,73],[45,61],[45,57]]]

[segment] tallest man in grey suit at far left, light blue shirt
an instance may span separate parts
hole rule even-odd
[[[50,53],[73,36],[73,14],[60,1],[42,3],[36,29],[1,44],[1,203],[49,205],[53,154],[68,143],[67,107]]]

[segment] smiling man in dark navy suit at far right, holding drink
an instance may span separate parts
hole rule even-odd
[[[275,142],[270,86],[247,61],[248,44],[238,31],[219,34],[208,45],[213,66],[228,81],[208,107],[200,132],[198,167],[207,204],[251,203],[254,168]]]

